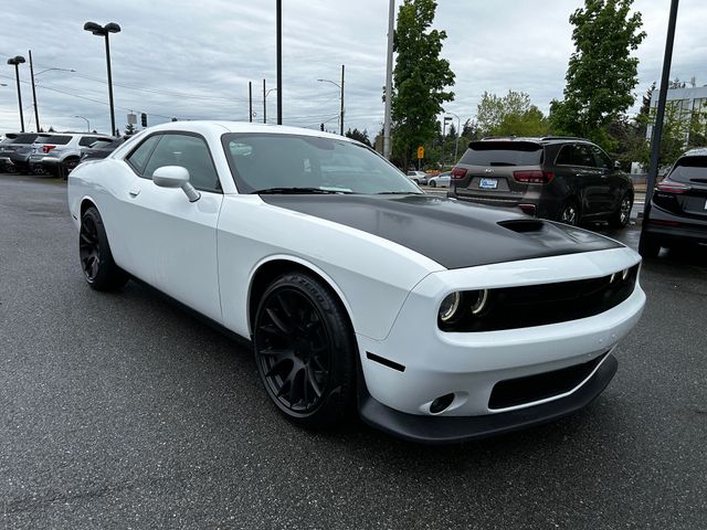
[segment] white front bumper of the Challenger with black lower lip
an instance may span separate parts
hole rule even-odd
[[[493,404],[492,394],[498,383],[589,363],[611,351],[631,331],[643,311],[645,295],[637,282],[627,299],[604,312],[546,326],[444,332],[436,326],[436,310],[441,300],[453,290],[601,277],[631,267],[639,261],[635,252],[624,247],[428,276],[412,290],[386,339],[357,336],[368,393],[361,401],[362,417],[391,432],[400,425],[425,422],[442,425],[436,422],[441,418],[454,420],[449,425],[467,425],[458,437],[451,434],[452,427],[443,427],[450,432],[439,441],[452,441],[483,436],[486,431],[490,433],[490,427],[482,428],[483,425],[498,425],[498,432],[505,432],[516,428],[511,425],[516,421],[520,421],[519,426],[535,423],[531,417],[537,422],[549,421],[577,410],[578,403],[589,403],[613,375],[615,360],[610,360],[612,357],[602,361],[600,368],[605,364],[604,368],[597,369],[591,377],[588,373],[588,379],[579,381],[580,384],[569,392],[503,406]],[[608,370],[610,365],[614,369]],[[597,390],[599,386],[601,389]],[[433,412],[434,400],[449,394],[454,396],[451,404],[442,412]],[[572,398],[574,394],[583,398]],[[401,420],[404,416],[413,417]],[[493,420],[492,416],[505,420]],[[388,427],[381,422],[389,422]],[[424,428],[419,431],[423,433]],[[410,434],[403,430],[399,434],[414,439],[414,432]],[[420,434],[419,438],[424,441],[425,436]]]

